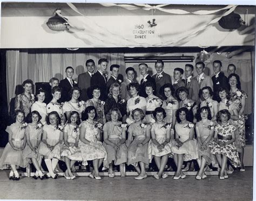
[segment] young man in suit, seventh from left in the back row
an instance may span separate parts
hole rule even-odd
[[[157,74],[154,74],[152,77],[156,81],[156,94],[159,98],[164,100],[164,97],[160,95],[160,88],[163,87],[166,83],[172,83],[171,76],[166,74],[164,70],[164,62],[162,60],[157,60],[154,63],[154,68],[157,70]]]

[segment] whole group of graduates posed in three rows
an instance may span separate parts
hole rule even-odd
[[[154,178],[166,178],[168,161],[173,159],[173,180],[185,178],[197,162],[196,179],[206,178],[205,170],[218,168],[224,180],[233,168],[245,171],[245,99],[235,66],[228,66],[228,77],[221,71],[221,61],[213,62],[214,75],[204,73],[205,64],[192,64],[184,70],[175,68],[174,81],[164,73],[164,62],[155,63],[157,74],[147,73],[146,63],[139,64],[140,84],[135,70],[119,74],[119,65],[110,67],[107,80],[106,59],[86,61],[86,73],[73,81],[73,68],[66,68],[66,78],[51,78],[51,93],[42,88],[31,93],[33,82],[23,82],[24,92],[15,99],[15,123],[6,128],[9,142],[0,159],[0,169],[11,167],[10,179],[19,180],[16,166],[33,163],[34,178],[57,178],[56,166],[65,161],[65,178],[73,180],[73,166],[92,161],[91,178],[100,180],[99,168],[108,169],[127,163],[138,173],[136,180],[147,177],[146,165],[154,164]],[[107,92],[107,93],[106,93]],[[50,97],[50,98],[49,98]],[[46,103],[45,103],[46,102]],[[41,163],[44,159],[48,173]],[[186,167],[182,169],[186,161]],[[193,168],[192,168],[193,169]]]

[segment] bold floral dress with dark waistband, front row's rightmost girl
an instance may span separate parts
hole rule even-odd
[[[235,127],[227,123],[227,125],[217,125],[215,127],[215,132],[218,133],[218,141],[219,142],[228,142],[232,139],[232,132],[235,131]],[[232,165],[237,168],[241,167],[239,155],[237,148],[235,147],[234,143],[229,145],[220,146],[216,142],[212,142],[209,145],[212,154],[221,154],[224,155],[230,160]]]

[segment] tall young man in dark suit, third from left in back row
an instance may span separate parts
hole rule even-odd
[[[91,77],[91,87],[92,86],[99,86],[100,88],[100,100],[106,100],[107,92],[106,92],[106,83],[107,83],[107,59],[103,58],[98,61],[98,70],[95,74]]]

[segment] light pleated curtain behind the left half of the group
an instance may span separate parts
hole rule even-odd
[[[6,51],[8,106],[11,98],[15,97],[16,85],[22,84],[24,80],[31,79],[34,84],[49,82],[51,77],[62,80],[66,77],[66,67],[72,66],[75,70],[73,79],[77,81],[78,75],[87,71],[86,60],[95,61],[96,71],[100,58],[109,60],[109,77],[111,64],[119,64],[119,73],[125,75],[124,53],[46,53],[45,49]]]

